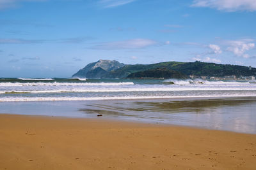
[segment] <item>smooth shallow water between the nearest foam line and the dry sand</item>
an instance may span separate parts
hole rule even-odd
[[[0,103],[0,113],[112,118],[256,134],[256,97]]]

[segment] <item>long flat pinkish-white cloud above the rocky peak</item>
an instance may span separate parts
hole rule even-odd
[[[129,39],[126,41],[113,41],[92,46],[94,49],[100,50],[120,50],[132,48],[145,48],[147,46],[157,45],[157,41],[152,39]]]

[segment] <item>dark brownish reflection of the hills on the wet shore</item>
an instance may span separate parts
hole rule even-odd
[[[112,101],[100,101],[100,103],[86,104],[86,108],[80,109],[86,113],[103,113],[108,115],[121,116],[124,112],[133,111],[134,115],[140,114],[141,111],[161,112],[161,113],[182,113],[196,112],[205,113],[207,109],[217,109],[223,106],[239,106],[243,104],[256,103],[255,98],[232,98],[232,99],[191,99],[181,101],[163,101],[162,99],[155,101],[125,101],[124,103]],[[97,109],[93,109],[97,108]],[[131,114],[131,112],[129,112]]]

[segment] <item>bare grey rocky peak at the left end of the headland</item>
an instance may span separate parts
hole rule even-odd
[[[98,60],[97,62],[92,62],[85,66],[83,69],[80,69],[72,77],[81,77],[81,78],[102,78],[109,71],[114,71],[124,67],[125,64],[122,64],[116,60]]]

